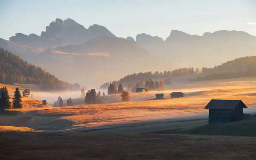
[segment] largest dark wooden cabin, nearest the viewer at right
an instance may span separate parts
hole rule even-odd
[[[241,100],[212,99],[204,109],[209,109],[208,124],[234,122],[242,119],[243,108],[247,108]]]

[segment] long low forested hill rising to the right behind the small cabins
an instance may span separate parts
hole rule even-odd
[[[129,84],[133,81],[146,81],[148,79],[163,79],[172,78],[177,76],[187,75],[190,81],[204,81],[215,79],[232,79],[246,76],[256,76],[256,56],[236,58],[233,61],[227,61],[221,65],[213,68],[203,67],[199,68],[180,68],[173,71],[164,71],[155,73],[133,73],[119,79],[118,81],[112,81],[116,84]],[[192,78],[192,75],[198,75],[198,78]],[[109,83],[102,84],[101,88],[107,88]]]

